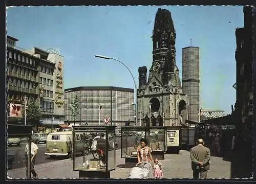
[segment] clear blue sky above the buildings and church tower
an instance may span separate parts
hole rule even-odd
[[[158,8],[172,13],[176,64],[182,79],[182,48],[200,48],[200,106],[231,113],[236,102],[236,28],[242,6],[41,6],[9,7],[7,34],[17,47],[57,48],[64,57],[64,86],[138,85],[138,67],[150,69],[152,34]],[[149,72],[147,72],[148,75]]]

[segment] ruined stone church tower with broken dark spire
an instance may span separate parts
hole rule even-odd
[[[158,9],[153,29],[153,62],[146,78],[139,67],[138,120],[142,126],[181,126],[187,120],[187,96],[183,94],[176,65],[176,32],[171,13]]]

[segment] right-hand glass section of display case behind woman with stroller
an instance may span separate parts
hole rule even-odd
[[[158,159],[164,159],[164,152],[167,150],[165,146],[166,128],[161,127],[146,127],[146,132],[149,132],[148,146],[152,149],[152,156]]]

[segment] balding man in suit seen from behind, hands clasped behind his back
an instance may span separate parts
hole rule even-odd
[[[210,169],[210,149],[204,146],[204,141],[199,139],[197,146],[190,150],[191,168],[194,179],[205,179]]]

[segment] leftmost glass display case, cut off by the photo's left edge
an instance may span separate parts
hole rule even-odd
[[[7,125],[6,137],[6,169],[7,179],[31,178],[31,130],[29,125]],[[15,165],[15,166],[14,166]],[[14,172],[13,167],[25,167]]]

